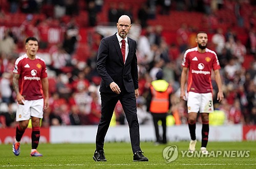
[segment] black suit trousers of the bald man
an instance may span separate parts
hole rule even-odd
[[[115,106],[120,100],[129,128],[133,153],[140,150],[139,122],[137,117],[137,105],[135,93],[121,91],[119,95],[100,93],[101,96],[101,118],[96,135],[96,150],[103,150],[106,132],[109,129]]]

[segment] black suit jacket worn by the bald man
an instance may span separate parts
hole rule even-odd
[[[97,71],[101,76],[100,92],[114,93],[110,89],[113,81],[129,93],[139,88],[136,41],[127,39],[129,52],[125,64],[116,34],[101,40],[97,55]]]

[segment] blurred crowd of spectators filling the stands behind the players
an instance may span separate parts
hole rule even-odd
[[[79,2],[79,3],[78,3]],[[26,19],[19,26],[22,34],[19,37],[11,29],[5,30],[5,35],[0,37],[0,127],[15,127],[15,93],[12,89],[12,70],[16,58],[24,52],[24,39],[35,36],[39,39],[39,48],[47,50],[51,62],[48,66],[50,108],[44,111],[42,126],[51,125],[96,125],[99,122],[101,104],[99,99],[99,84],[101,78],[96,70],[97,50],[103,35],[95,33],[91,43],[90,57],[80,62],[74,59],[74,53],[80,40],[79,27],[75,17],[79,15],[79,5],[84,4],[84,10],[88,15],[88,24],[83,26],[96,26],[97,13],[102,11],[106,3],[103,0],[94,1],[9,1],[8,10],[4,10],[0,3],[0,18],[8,13],[26,13]],[[163,36],[163,26],[147,24],[147,20],[155,18],[155,15],[172,15],[172,10],[191,11],[210,15],[211,1],[144,1],[137,11],[137,16],[131,12],[132,8],[125,8],[124,3],[110,3],[108,13],[109,25],[115,23],[119,16],[129,15],[134,22],[140,24],[142,33],[137,38],[137,57],[139,70],[139,94],[137,99],[138,119],[140,124],[152,124],[152,116],[146,111],[146,100],[150,84],[156,79],[156,74],[163,71],[164,79],[170,83],[174,91],[172,93],[172,108],[169,112],[169,125],[187,123],[186,103],[179,98],[181,62],[184,51],[195,47],[194,39],[196,31],[193,27],[182,23],[176,32],[176,42],[168,44]],[[194,2],[194,3],[193,3]],[[195,3],[197,2],[197,3]],[[199,7],[203,3],[202,8]],[[223,30],[221,27],[207,30],[212,35],[208,42],[208,48],[216,51],[221,65],[221,76],[225,99],[219,103],[216,99],[218,92],[215,80],[212,80],[214,88],[215,109],[224,115],[222,124],[256,124],[256,12],[250,18],[243,18],[239,14],[239,8],[243,4],[255,7],[254,1],[216,1],[217,8],[223,9],[224,2],[234,4],[234,12],[237,11],[237,26],[243,29],[243,19],[250,20],[247,30],[246,43],[242,43],[233,27]],[[175,4],[175,8],[172,5]],[[3,4],[2,4],[3,5]],[[207,6],[208,5],[208,6]],[[2,8],[1,8],[2,7]],[[207,8],[208,7],[208,8]],[[157,10],[157,9],[161,10]],[[238,9],[237,9],[238,8]],[[53,10],[49,10],[53,9]],[[122,10],[121,10],[122,9]],[[171,10],[172,9],[172,10]],[[130,12],[129,12],[130,10]],[[218,10],[218,9],[217,9]],[[33,14],[38,11],[46,15],[46,19],[31,22]],[[64,15],[71,16],[67,22],[61,18]],[[54,20],[54,22],[53,22]],[[55,21],[58,23],[55,23]],[[46,36],[46,27],[53,24],[61,25],[63,41],[49,46]],[[22,48],[22,50],[20,49]],[[248,60],[247,57],[251,59]],[[42,59],[45,59],[42,57]],[[245,62],[250,63],[245,63]],[[245,67],[244,65],[249,65]],[[212,76],[212,79],[214,76]],[[112,125],[127,124],[122,106],[116,105]],[[200,117],[198,122],[200,122]]]

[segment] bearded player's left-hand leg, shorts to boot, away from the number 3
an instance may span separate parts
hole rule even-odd
[[[196,150],[196,122],[197,112],[200,108],[201,97],[199,93],[189,92],[187,98],[187,111],[188,111],[188,128],[190,133],[190,143],[188,150],[194,153]]]

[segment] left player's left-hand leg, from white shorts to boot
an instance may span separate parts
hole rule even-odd
[[[16,121],[18,125],[16,127],[16,134],[12,145],[13,153],[18,156],[20,153],[20,140],[28,127],[29,119],[30,119],[30,102],[25,101],[24,105],[18,104],[16,110]]]

